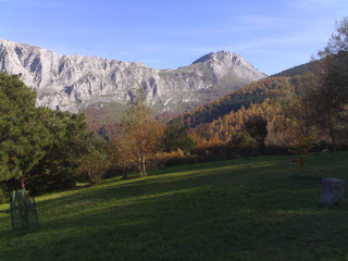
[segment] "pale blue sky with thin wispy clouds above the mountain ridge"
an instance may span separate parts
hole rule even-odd
[[[220,50],[268,75],[310,61],[347,0],[0,0],[0,38],[177,69]]]

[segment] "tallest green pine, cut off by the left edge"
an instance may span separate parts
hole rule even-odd
[[[52,137],[39,121],[35,99],[20,76],[0,73],[0,182],[15,178],[23,188]]]

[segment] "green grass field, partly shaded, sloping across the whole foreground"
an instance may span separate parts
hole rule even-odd
[[[348,260],[348,203],[320,206],[321,177],[347,181],[348,152],[158,170],[37,197],[41,229],[12,232],[0,260]]]

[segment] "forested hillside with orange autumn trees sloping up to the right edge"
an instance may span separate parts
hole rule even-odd
[[[304,139],[333,150],[347,146],[347,27],[345,18],[316,60],[245,86],[173,122],[185,124],[200,148],[264,142],[291,147]]]

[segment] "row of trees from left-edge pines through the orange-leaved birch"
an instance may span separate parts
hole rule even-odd
[[[89,132],[84,114],[36,107],[21,75],[0,73],[0,200],[18,188],[35,195],[94,185],[117,172],[126,178],[135,169],[146,176],[159,158],[189,149],[187,130],[156,121],[141,97],[108,138]]]

